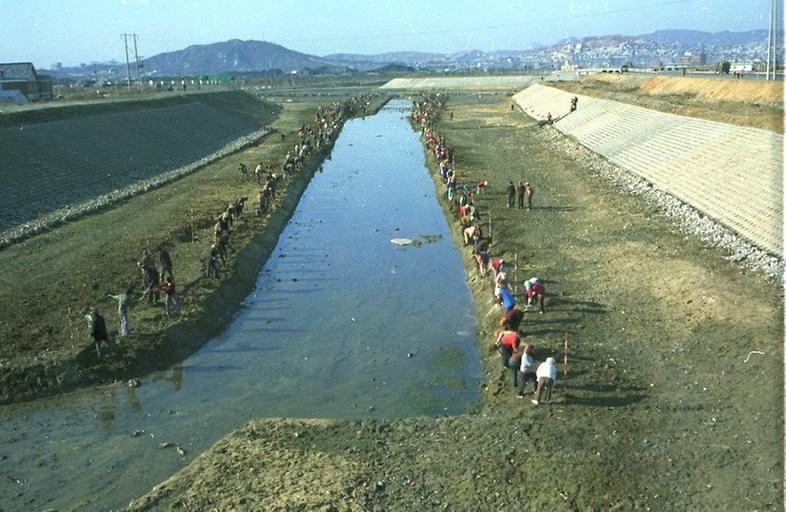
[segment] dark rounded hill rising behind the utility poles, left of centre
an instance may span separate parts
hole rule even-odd
[[[330,71],[333,63],[266,41],[232,39],[222,43],[189,46],[176,52],[160,53],[144,60],[147,76],[204,75],[249,71],[303,69]]]

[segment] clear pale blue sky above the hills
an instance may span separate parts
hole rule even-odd
[[[123,60],[123,32],[139,34],[143,56],[233,38],[316,55],[518,50],[570,36],[765,29],[769,5],[770,0],[0,0],[0,61],[49,68],[55,62]]]

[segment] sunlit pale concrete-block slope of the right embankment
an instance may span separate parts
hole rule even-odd
[[[730,228],[759,249],[783,248],[783,135],[657,112],[533,85],[513,99],[613,164]]]

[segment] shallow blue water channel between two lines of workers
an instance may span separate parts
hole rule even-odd
[[[256,290],[198,353],[136,389],[0,407],[0,510],[123,507],[252,418],[477,403],[470,294],[408,107],[345,125]]]

